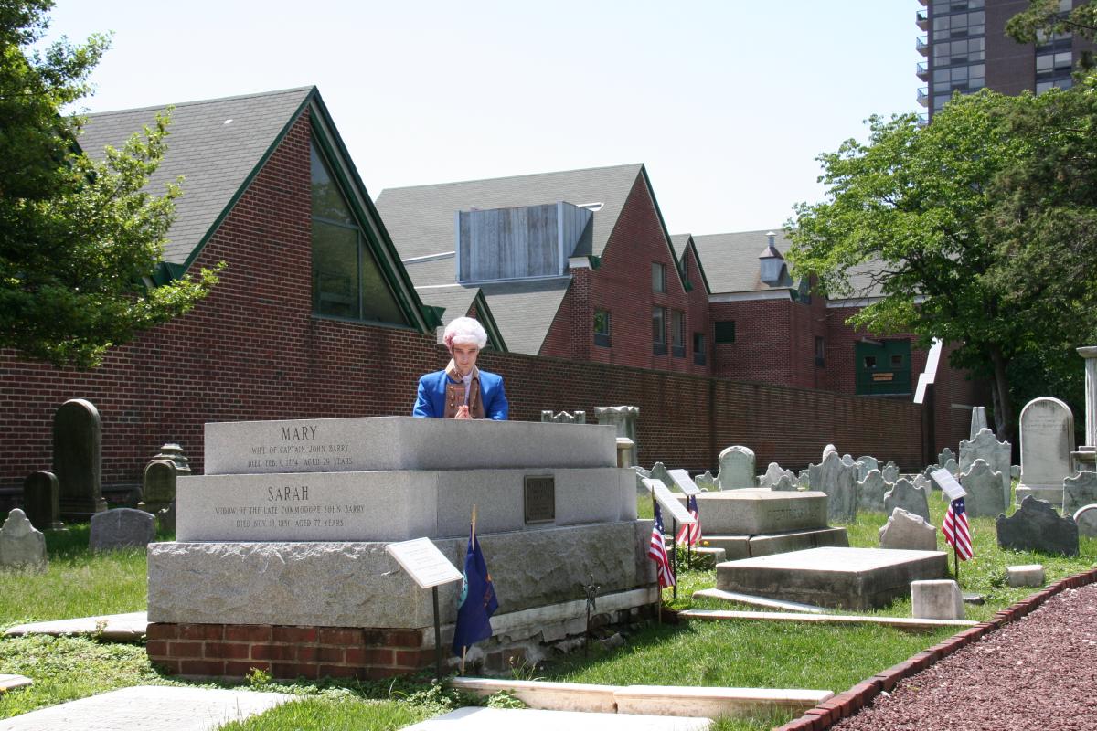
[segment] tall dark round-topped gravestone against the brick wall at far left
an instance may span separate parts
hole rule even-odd
[[[54,475],[61,516],[88,518],[106,510],[102,464],[99,410],[83,399],[66,401],[54,414]]]

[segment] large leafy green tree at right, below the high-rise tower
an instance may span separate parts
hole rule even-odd
[[[1097,330],[1084,316],[1097,305],[1087,89],[1097,82],[958,95],[929,126],[872,117],[867,144],[818,158],[827,199],[789,222],[794,272],[830,295],[879,292],[851,324],[908,331],[921,346],[940,338],[957,346],[953,366],[991,380],[1002,437],[1015,422],[1010,364],[1030,369],[1051,352],[1065,363]]]

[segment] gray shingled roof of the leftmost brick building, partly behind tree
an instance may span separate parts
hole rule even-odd
[[[303,87],[174,106],[167,153],[149,181],[150,192],[160,194],[166,183],[184,176],[165,261],[186,262],[312,91]],[[101,157],[106,145],[122,147],[163,108],[89,115],[80,146]]]

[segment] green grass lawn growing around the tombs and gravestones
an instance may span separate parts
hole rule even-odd
[[[930,522],[940,526],[947,503],[940,493],[930,496]],[[638,499],[641,514],[651,515],[651,502]],[[703,521],[703,515],[702,515]],[[879,545],[882,513],[863,513],[845,526],[851,546]],[[668,526],[669,527],[669,526]],[[1097,539],[1083,538],[1082,555],[1067,559],[997,547],[993,518],[972,521],[975,560],[960,566],[965,592],[984,595],[982,606],[968,606],[970,619],[987,619],[995,612],[1032,593],[1006,586],[1006,567],[1042,563],[1052,582],[1093,566]],[[146,606],[145,552],[93,555],[87,550],[88,526],[47,534],[49,569],[43,573],[0,572],[0,629],[31,620],[61,619],[97,614],[140,610]],[[943,550],[943,544],[939,544]],[[680,563],[685,566],[685,563]],[[952,563],[950,561],[950,569]],[[693,591],[715,585],[715,571],[682,571],[678,599],[664,591],[674,608],[736,608],[712,599],[694,602]],[[887,616],[909,616],[909,599],[877,610]],[[818,688],[841,692],[950,636],[952,630],[907,632],[886,627],[821,626],[769,623],[694,623],[651,625],[627,637],[623,647],[581,652],[536,669],[522,669],[521,677],[539,677],[614,685],[705,685],[739,687]],[[177,684],[148,663],[143,644],[109,644],[81,638],[12,638],[0,640],[0,673],[27,675],[35,684],[0,696],[0,718],[139,684]],[[250,678],[256,689],[299,694],[286,704],[247,721],[223,727],[231,731],[271,729],[398,729],[432,715],[473,703],[431,686],[423,678],[395,683],[323,682],[271,683],[259,673]],[[490,705],[513,705],[507,697]],[[767,729],[794,713],[748,719],[720,719],[719,731]]]

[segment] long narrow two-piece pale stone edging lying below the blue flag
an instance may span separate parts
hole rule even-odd
[[[511,693],[530,708],[651,716],[747,716],[769,709],[804,711],[827,700],[829,690],[725,688],[674,685],[588,685],[457,677],[450,687],[478,696]]]

